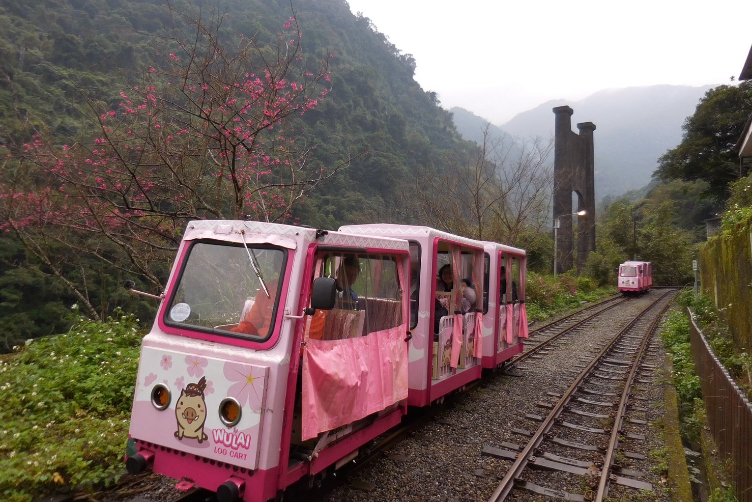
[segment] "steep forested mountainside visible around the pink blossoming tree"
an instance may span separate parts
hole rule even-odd
[[[74,85],[102,99],[128,71],[150,64],[154,39],[174,20],[166,2],[128,0],[8,0],[0,5],[0,141],[23,139],[23,123],[44,122],[66,138],[80,130]],[[203,5],[209,22],[211,2]],[[402,54],[355,17],[344,0],[292,3],[305,57],[329,57],[331,91],[305,115],[314,157],[333,166],[353,160],[315,196],[301,223],[335,227],[362,221],[365,208],[382,211],[394,202],[393,186],[416,166],[441,169],[448,151],[468,148],[450,114],[414,81],[414,59]],[[176,8],[180,9],[179,6]],[[274,41],[290,17],[287,0],[217,2],[222,32]],[[119,71],[119,73],[116,73]],[[70,81],[66,82],[65,78]],[[116,95],[117,97],[117,95]],[[22,132],[23,131],[23,132]]]

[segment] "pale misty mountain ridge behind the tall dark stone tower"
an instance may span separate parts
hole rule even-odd
[[[620,196],[648,183],[658,166],[658,157],[681,141],[684,120],[690,117],[708,89],[702,87],[655,85],[625,87],[593,93],[579,101],[554,99],[517,114],[501,126],[490,126],[491,138],[553,138],[556,106],[568,105],[572,131],[577,124],[596,124],[596,199]],[[479,144],[487,120],[464,108],[451,108],[454,124],[463,138]],[[553,157],[551,158],[553,162]]]

